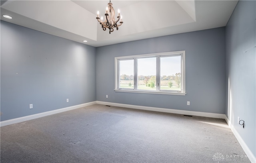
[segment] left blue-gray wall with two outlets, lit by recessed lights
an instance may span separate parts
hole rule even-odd
[[[96,101],[95,53],[1,21],[1,121]]]

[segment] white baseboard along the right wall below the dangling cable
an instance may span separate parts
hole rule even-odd
[[[254,156],[254,154],[252,153],[250,148],[246,145],[246,143],[244,142],[244,140],[242,139],[240,134],[236,131],[233,124],[229,121],[229,119],[226,115],[225,115],[224,119],[226,120],[226,122],[227,122],[228,126],[230,127],[231,131],[233,132],[234,136],[236,137],[236,139],[240,143],[242,149],[244,149],[244,152],[246,153],[247,157],[250,159],[250,161],[252,163],[256,163],[256,157]]]

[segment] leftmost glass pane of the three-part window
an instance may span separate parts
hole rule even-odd
[[[120,88],[134,88],[134,60],[119,61],[120,64]]]

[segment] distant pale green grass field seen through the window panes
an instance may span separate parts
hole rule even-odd
[[[180,90],[180,88],[178,88],[178,85],[176,84],[175,81],[172,81],[172,87],[170,88],[168,86],[168,82],[169,81],[161,81],[161,90]],[[120,81],[120,87],[121,88],[133,88],[134,84],[133,84],[133,80],[121,80]],[[129,86],[130,84],[130,86]],[[138,89],[141,90],[156,90],[156,86],[154,86],[154,88],[148,87],[146,86],[146,84],[144,83],[144,81],[138,81]]]

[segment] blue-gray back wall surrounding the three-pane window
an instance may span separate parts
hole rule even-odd
[[[185,96],[114,91],[114,57],[181,50],[186,51]],[[98,47],[96,91],[98,101],[224,114],[225,27]]]

